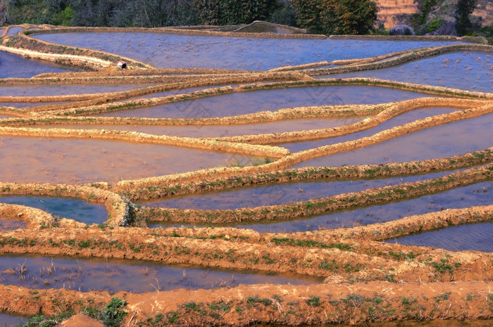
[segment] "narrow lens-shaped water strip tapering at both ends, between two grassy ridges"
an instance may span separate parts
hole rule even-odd
[[[456,171],[454,171],[456,172]],[[342,193],[358,192],[407,182],[441,177],[451,172],[394,177],[387,179],[359,179],[349,181],[305,181],[289,184],[271,184],[242,187],[223,192],[201,193],[170,197],[139,203],[148,207],[173,207],[177,209],[228,210],[263,205],[282,205],[313,198],[325,198]],[[0,198],[1,201],[1,198]]]

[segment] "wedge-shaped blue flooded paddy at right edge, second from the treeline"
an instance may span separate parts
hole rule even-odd
[[[373,77],[446,86],[453,89],[491,92],[493,89],[493,53],[475,51],[444,53],[391,68],[322,75],[316,78],[347,77]]]

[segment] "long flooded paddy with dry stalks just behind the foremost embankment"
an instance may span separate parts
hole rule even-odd
[[[27,271],[19,274],[22,266]],[[12,269],[15,274],[9,274],[8,269]],[[308,285],[322,282],[319,278],[294,274],[273,275],[254,271],[246,273],[186,266],[171,267],[132,260],[52,259],[14,255],[0,257],[0,281],[27,288],[65,288],[82,292],[106,290],[114,293],[146,293],[176,288],[208,289],[237,286],[240,283]]]

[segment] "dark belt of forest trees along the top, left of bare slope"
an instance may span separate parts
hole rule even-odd
[[[372,0],[0,0],[0,7],[8,24],[161,27],[266,20],[316,33],[367,34],[377,19]]]

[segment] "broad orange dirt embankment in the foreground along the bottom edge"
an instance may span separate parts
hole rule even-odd
[[[123,326],[249,326],[254,324],[364,323],[428,319],[487,319],[493,310],[489,282],[354,283],[323,286],[239,286],[173,290],[146,295],[77,293],[0,286],[0,308],[58,314],[65,308],[104,307],[111,297],[127,301]],[[63,301],[60,301],[60,297]],[[13,300],[17,299],[17,300]]]

